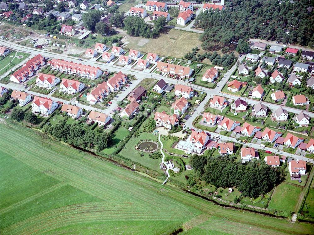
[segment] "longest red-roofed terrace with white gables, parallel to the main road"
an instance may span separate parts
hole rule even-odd
[[[102,71],[99,67],[69,62],[66,60],[52,59],[49,61],[52,69],[68,74],[76,74],[83,78],[97,79]]]

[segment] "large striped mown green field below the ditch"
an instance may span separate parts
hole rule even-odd
[[[309,224],[226,210],[0,123],[2,234],[308,234]]]

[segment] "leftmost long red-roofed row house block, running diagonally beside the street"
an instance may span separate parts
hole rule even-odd
[[[16,83],[23,83],[28,77],[33,76],[34,72],[46,63],[46,59],[38,54],[23,64],[23,67],[11,74],[10,80]]]

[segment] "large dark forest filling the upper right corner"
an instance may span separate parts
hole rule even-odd
[[[314,46],[314,17],[307,10],[310,6],[306,0],[281,4],[277,0],[233,0],[225,10],[199,14],[196,24],[205,30],[201,40],[207,50],[230,46],[241,38]]]

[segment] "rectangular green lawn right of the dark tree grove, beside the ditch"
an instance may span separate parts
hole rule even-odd
[[[283,182],[274,189],[268,209],[286,213],[297,212],[295,211],[295,205],[299,199],[300,193],[300,187]]]

